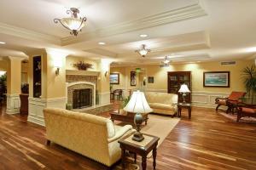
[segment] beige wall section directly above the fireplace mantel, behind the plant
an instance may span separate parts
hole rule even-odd
[[[66,59],[66,69],[67,70],[78,70],[76,67],[73,66],[73,64],[79,62],[79,61],[84,61],[84,63],[90,63],[92,64],[93,68],[89,69],[88,71],[98,71],[99,70],[99,64],[96,60],[91,60],[91,59],[85,59],[81,57],[73,57],[73,56],[67,56]]]

